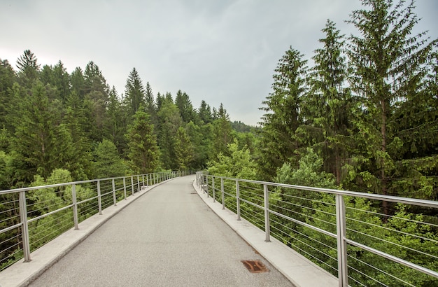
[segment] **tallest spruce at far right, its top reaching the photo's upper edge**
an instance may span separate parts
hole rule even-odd
[[[355,10],[353,24],[362,36],[351,36],[348,55],[353,75],[350,84],[360,99],[355,126],[363,162],[358,177],[370,191],[396,194],[395,153],[403,145],[397,136],[395,111],[407,99],[416,101],[422,66],[436,41],[425,32],[412,36],[418,22],[414,1],[363,0],[369,10]],[[409,107],[406,107],[409,108]],[[388,213],[387,202],[383,212]]]

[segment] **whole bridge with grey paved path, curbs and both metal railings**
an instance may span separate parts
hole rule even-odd
[[[299,216],[298,219],[291,218],[290,214],[297,209],[286,207],[284,198],[279,200],[275,195],[277,191],[285,197],[288,194],[285,190],[306,190],[305,196],[298,196],[299,193],[293,195],[293,204],[300,209],[306,206],[302,202],[306,197],[313,202],[311,209],[315,209],[315,201],[321,202],[321,198],[315,200],[310,193],[333,194],[336,201],[325,199],[327,202],[324,204],[334,207],[334,230],[312,225],[310,221],[300,220]],[[45,198],[42,201],[45,206],[37,206],[36,198],[49,191],[57,197],[68,198],[71,204],[59,206],[53,198]],[[354,216],[346,214],[345,209],[351,207],[346,207],[344,197],[358,197],[358,193],[226,179],[202,173],[185,176],[181,172],[170,172],[6,190],[0,195],[10,198],[8,201],[3,198],[3,205],[16,207],[15,214],[20,214],[20,220],[11,217],[11,223],[6,224],[6,228],[3,228],[5,224],[0,225],[3,228],[0,235],[19,230],[6,236],[6,239],[2,237],[1,246],[13,246],[1,250],[3,254],[12,254],[2,256],[2,266],[6,265],[0,272],[2,287],[370,286],[369,282],[381,282],[380,286],[415,286],[404,276],[389,274],[386,270],[380,271],[389,276],[393,284],[388,285],[381,278],[360,281],[360,277],[351,275],[352,271],[361,270],[348,264],[352,261],[348,254],[351,253],[350,246],[418,272],[420,276],[425,276],[423,282],[435,284],[438,278],[434,269],[438,258],[436,250],[425,253],[418,246],[414,249],[415,246],[397,243],[400,248],[409,248],[411,252],[418,251],[424,258],[430,258],[430,262],[420,265],[377,250],[373,244],[367,246],[358,237],[348,236],[346,230],[351,228],[346,228],[346,222]],[[367,197],[415,204],[416,207],[435,211],[438,208],[438,203],[431,201],[381,198],[368,194],[360,196],[357,201]],[[48,209],[49,206],[53,207]],[[3,210],[14,214],[10,212],[13,209],[3,207]],[[318,217],[318,212],[325,216],[331,213],[329,209],[321,209],[313,212],[314,218]],[[330,223],[330,219],[321,216],[318,220]],[[17,223],[13,224],[14,221]],[[412,221],[408,219],[409,223]],[[415,223],[430,226],[432,233],[436,232],[434,228],[437,225],[433,223]],[[52,228],[53,225],[56,228]],[[294,230],[292,225],[303,225],[323,237],[334,239],[334,257],[326,255],[337,261],[335,265],[338,268],[330,266],[335,269],[330,272],[330,267],[323,269],[316,265],[315,261],[323,261],[317,254],[318,250],[304,249],[302,244],[295,242],[304,241],[306,237],[288,241],[290,235],[281,235],[285,230],[281,225],[289,225],[291,230]],[[58,231],[53,232],[52,229]],[[404,237],[420,237],[414,232],[402,232]],[[308,232],[308,235],[311,234],[315,233]],[[321,235],[315,241],[325,241]],[[428,242],[437,245],[436,238],[423,236],[421,241],[426,242],[428,248]],[[7,241],[10,244],[5,244]],[[17,244],[13,244],[15,241]],[[330,243],[327,241],[324,244]],[[14,246],[22,248],[17,248],[14,253],[10,250]],[[296,250],[304,251],[300,252],[304,255]],[[20,253],[22,259],[16,262],[10,259],[17,258]],[[316,258],[313,262],[308,259],[312,253]],[[12,263],[8,265],[4,258]],[[325,260],[325,264],[330,265],[330,260]],[[399,267],[399,270],[402,269]]]

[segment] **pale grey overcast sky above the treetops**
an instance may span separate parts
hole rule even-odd
[[[94,61],[125,93],[135,67],[153,93],[187,92],[224,104],[231,120],[260,121],[278,60],[290,46],[307,59],[327,19],[343,34],[358,0],[0,0],[0,59],[31,50],[39,64],[61,60],[69,73]],[[438,38],[438,1],[418,0],[418,31]]]

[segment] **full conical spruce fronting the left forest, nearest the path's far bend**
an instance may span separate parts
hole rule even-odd
[[[126,137],[128,157],[134,172],[140,174],[155,172],[160,166],[160,150],[154,127],[147,113],[143,111],[135,113],[134,123],[129,127]]]

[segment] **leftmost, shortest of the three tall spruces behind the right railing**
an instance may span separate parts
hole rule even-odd
[[[273,92],[269,94],[261,110],[262,117],[259,164],[262,176],[272,179],[276,169],[284,162],[297,163],[295,150],[299,143],[295,137],[302,125],[301,101],[306,93],[307,61],[303,55],[290,48],[278,62],[275,69]]]

